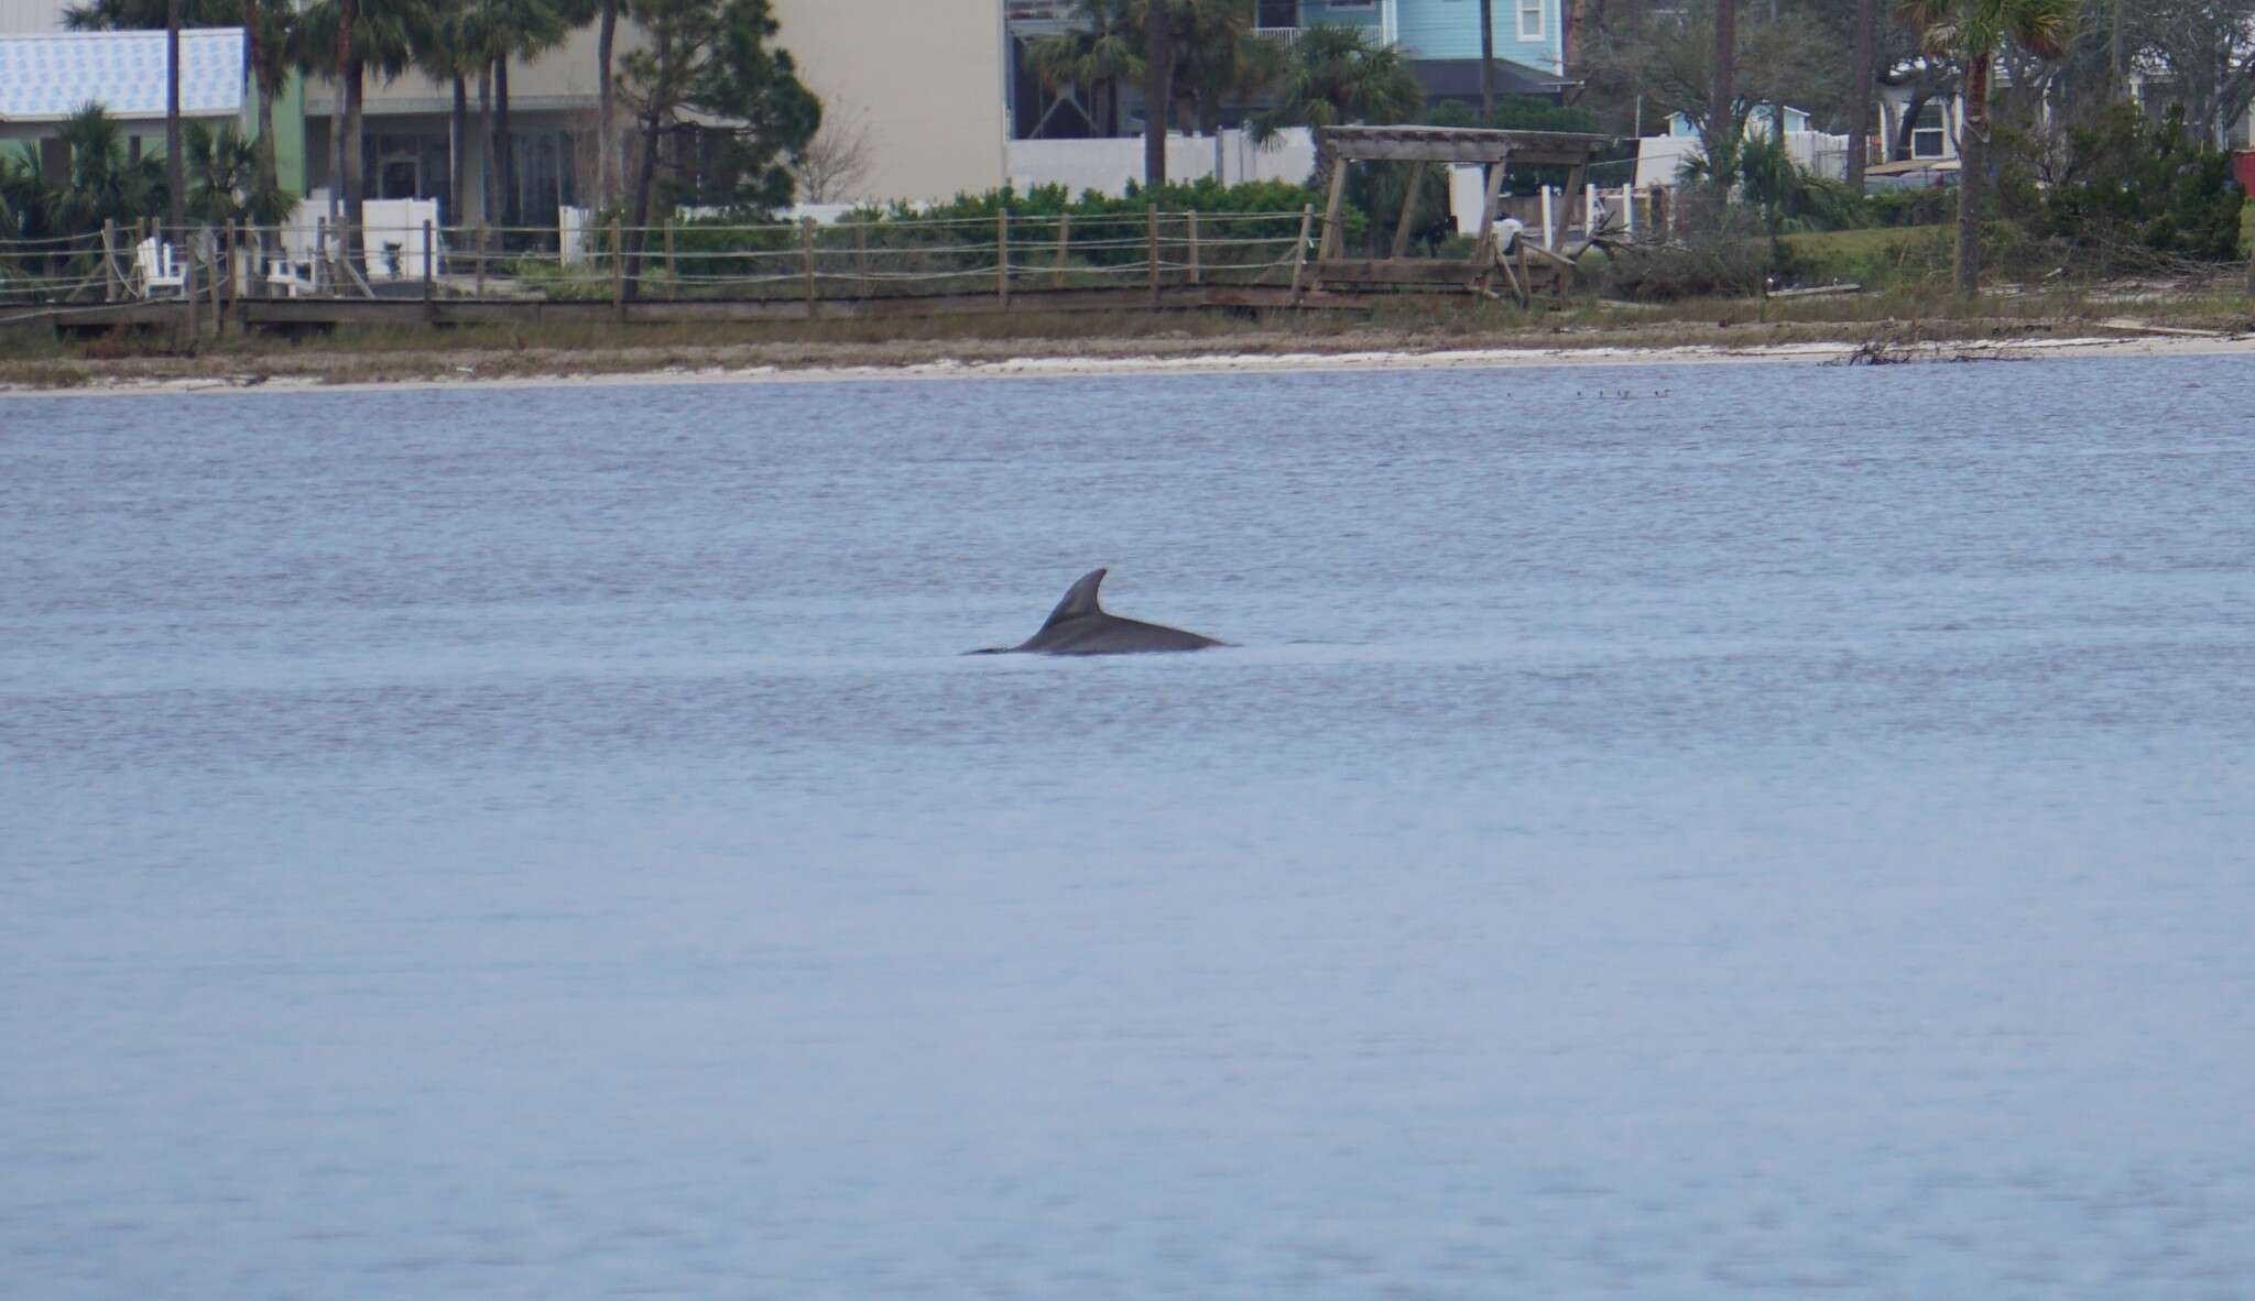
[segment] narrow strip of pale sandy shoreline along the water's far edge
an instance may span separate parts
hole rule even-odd
[[[1847,365],[1858,356],[1876,363],[1948,363],[1948,361],[2032,361],[2043,356],[2255,356],[2255,334],[2196,334],[2135,329],[2120,334],[2075,334],[2063,338],[1939,338],[1930,343],[1872,340],[1802,340],[1750,345],[1630,345],[1590,343],[1558,347],[1421,347],[1403,340],[1396,347],[1306,347],[1312,340],[1288,340],[1301,347],[1274,352],[1229,349],[1231,340],[1213,340],[1215,349],[1175,352],[1152,347],[1155,340],[1109,340],[1078,354],[1028,349],[1024,356],[934,356],[900,363],[773,363],[773,365],[681,365],[654,356],[652,365],[618,370],[571,368],[519,374],[478,374],[476,365],[453,365],[449,374],[408,374],[397,379],[331,381],[318,370],[275,374],[266,370],[221,370],[189,377],[106,377],[83,383],[7,383],[9,397],[158,397],[205,392],[372,392],[372,390],[451,390],[451,388],[555,388],[555,386],[649,386],[649,383],[884,383],[936,379],[1087,379],[1087,377],[1179,377],[1179,374],[1292,374],[1292,372],[1360,372],[1360,370],[1527,370],[1590,365]],[[1134,352],[1141,345],[1141,352]],[[1006,352],[1008,347],[1003,347]],[[1876,356],[1874,352],[1876,349]],[[1112,354],[1105,354],[1112,352]],[[465,359],[485,354],[469,352]],[[232,361],[232,359],[230,359]]]

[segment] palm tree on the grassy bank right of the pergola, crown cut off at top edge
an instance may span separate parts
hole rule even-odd
[[[2081,0],[1905,0],[1903,20],[1928,54],[1964,68],[1964,129],[1957,140],[1957,293],[1980,291],[1980,210],[1989,187],[1989,77],[2014,41],[2057,59]]]

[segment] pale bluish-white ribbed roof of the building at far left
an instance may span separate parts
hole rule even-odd
[[[0,36],[0,122],[61,122],[88,104],[110,117],[165,117],[165,34]],[[244,29],[180,32],[180,115],[241,110]]]

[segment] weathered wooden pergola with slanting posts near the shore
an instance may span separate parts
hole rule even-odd
[[[1603,135],[1576,131],[1484,131],[1475,126],[1326,126],[1319,151],[1328,153],[1330,194],[1324,203],[1324,239],[1317,248],[1312,289],[1448,289],[1470,293],[1495,293],[1502,280],[1511,295],[1527,302],[1536,293],[1556,298],[1572,275],[1572,257],[1560,257],[1549,248],[1515,241],[1506,257],[1495,239],[1495,201],[1504,189],[1504,169],[1565,167],[1567,194],[1578,194],[1590,171],[1590,160],[1608,144]],[[1391,257],[1346,257],[1339,212],[1346,203],[1346,171],[1358,162],[1409,162],[1409,185],[1403,196],[1403,212],[1394,225]],[[1407,257],[1409,230],[1416,221],[1418,183],[1432,165],[1477,162],[1488,169],[1486,201],[1479,210],[1479,237],[1473,257],[1448,262],[1434,257]]]

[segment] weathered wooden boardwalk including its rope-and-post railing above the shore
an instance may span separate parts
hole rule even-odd
[[[162,239],[160,239],[162,234]],[[1369,311],[1306,284],[1315,207],[557,232],[257,228],[0,241],[0,327],[309,331],[471,322],[798,322],[1053,311]],[[298,244],[295,250],[291,246]],[[354,248],[354,253],[347,253]],[[138,250],[131,253],[129,250]],[[370,253],[359,253],[370,250]],[[374,250],[383,250],[377,255]],[[142,262],[162,255],[160,275]],[[178,266],[178,273],[171,268]]]

